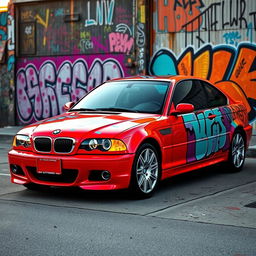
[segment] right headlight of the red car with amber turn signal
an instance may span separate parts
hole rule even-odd
[[[115,139],[87,139],[81,143],[80,149],[85,149],[87,151],[98,149],[101,151],[112,152],[127,150],[124,142]]]

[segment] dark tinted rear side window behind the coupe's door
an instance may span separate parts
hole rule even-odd
[[[208,108],[227,105],[227,98],[222,92],[204,81],[201,81],[201,84],[204,87],[206,96],[208,98]]]

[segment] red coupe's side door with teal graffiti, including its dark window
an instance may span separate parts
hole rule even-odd
[[[213,115],[207,109],[207,96],[200,81],[186,79],[178,82],[174,88],[172,104],[190,103],[195,107],[192,113],[170,116],[172,130],[171,167],[202,160],[207,155],[208,133],[206,118]]]

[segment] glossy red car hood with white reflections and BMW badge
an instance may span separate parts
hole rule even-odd
[[[119,133],[159,118],[159,115],[141,113],[65,113],[45,119],[19,131],[19,134],[58,137],[114,137]],[[56,134],[54,134],[56,133]]]

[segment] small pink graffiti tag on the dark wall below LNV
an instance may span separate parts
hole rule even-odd
[[[110,52],[122,52],[129,54],[134,43],[133,37],[128,34],[112,32],[109,34]]]

